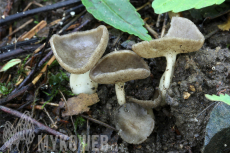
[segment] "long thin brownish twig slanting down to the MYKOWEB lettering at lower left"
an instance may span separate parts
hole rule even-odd
[[[60,132],[58,132],[58,131],[55,131],[55,130],[51,129],[50,127],[48,127],[48,126],[46,126],[46,125],[44,125],[44,124],[42,124],[42,123],[36,121],[35,119],[31,118],[30,116],[27,116],[27,115],[25,115],[25,114],[22,114],[22,113],[20,113],[20,112],[18,112],[18,111],[16,111],[16,110],[7,108],[7,107],[5,107],[5,106],[0,106],[0,110],[3,111],[3,112],[5,112],[5,113],[8,113],[8,114],[11,114],[11,115],[20,117],[20,118],[21,118],[22,116],[24,116],[25,118],[28,118],[28,120],[31,120],[31,122],[32,122],[33,124],[35,124],[35,125],[38,127],[38,129],[41,130],[41,131],[45,131],[45,132],[50,133],[50,134],[52,134],[52,135],[58,136],[59,138],[61,138],[61,139],[63,139],[63,140],[69,140],[69,139],[70,139],[70,137],[69,137],[68,135],[65,135],[65,134],[63,134],[63,133],[60,133]]]

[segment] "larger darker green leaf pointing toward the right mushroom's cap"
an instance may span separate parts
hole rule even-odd
[[[128,0],[82,0],[82,3],[96,19],[142,40],[152,40],[143,27],[144,21],[140,14]]]

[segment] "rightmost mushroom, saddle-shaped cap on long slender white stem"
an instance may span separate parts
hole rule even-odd
[[[173,77],[176,55],[197,51],[203,43],[204,36],[192,21],[182,17],[173,17],[171,27],[165,37],[149,42],[143,41],[132,46],[133,51],[144,58],[166,57],[166,70],[159,84],[161,105],[165,104],[165,95]]]

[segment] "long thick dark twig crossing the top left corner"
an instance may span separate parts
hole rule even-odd
[[[10,16],[6,17],[5,19],[0,19],[0,25],[4,25],[8,22],[15,21],[19,18],[32,16],[32,15],[37,14],[37,13],[47,12],[47,11],[58,9],[61,7],[66,7],[66,6],[69,6],[71,4],[76,4],[78,2],[80,2],[80,0],[68,0],[68,1],[64,1],[64,2],[58,2],[58,3],[52,4],[52,5],[47,5],[44,7],[32,9],[32,10],[29,10],[26,12],[21,12],[21,13],[17,13],[14,15],[10,15]]]

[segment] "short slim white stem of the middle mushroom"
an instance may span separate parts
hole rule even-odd
[[[115,84],[115,90],[117,95],[117,102],[120,105],[123,105],[126,103],[125,100],[125,83],[124,82],[118,82]]]

